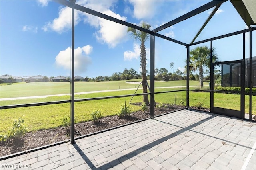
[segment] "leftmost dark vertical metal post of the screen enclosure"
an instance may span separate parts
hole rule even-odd
[[[72,7],[72,56],[70,78],[70,142],[74,144],[74,65],[75,65],[75,8]]]

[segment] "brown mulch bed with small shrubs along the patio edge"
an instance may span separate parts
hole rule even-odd
[[[140,105],[140,103],[135,103],[135,105]],[[156,108],[155,115],[161,115],[183,108],[185,108],[185,106],[167,105],[166,108]],[[200,110],[209,111],[209,109]],[[143,111],[136,111],[134,113],[131,113],[130,116],[126,116],[124,118],[119,118],[117,115],[114,115],[109,117],[103,117],[97,122],[87,121],[82,123],[76,123],[74,126],[75,137],[124,125],[148,117],[149,111],[146,111],[145,113]],[[70,139],[69,131],[70,130],[67,127],[59,127],[54,129],[26,133],[26,135],[24,135],[19,140],[10,140],[6,141],[6,143],[1,143],[0,156],[6,156],[9,154],[34,149],[36,147],[42,147],[44,145],[49,145],[52,143]]]

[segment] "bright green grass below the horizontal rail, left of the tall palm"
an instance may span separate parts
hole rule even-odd
[[[102,115],[110,116],[116,115],[121,104],[125,101],[129,103],[129,98],[114,98],[109,100],[95,100],[88,102],[75,103],[75,120],[76,122],[90,120],[90,113],[93,110],[100,109]],[[134,97],[133,102],[139,102],[140,98]],[[133,111],[140,109],[139,106],[132,106]],[[62,119],[70,115],[70,104],[52,104],[47,106],[22,107],[14,109],[1,110],[1,126],[0,133],[6,133],[8,127],[12,125],[14,119],[22,117],[26,125],[29,127],[28,131],[36,131],[39,129],[50,129],[59,127],[62,124]]]

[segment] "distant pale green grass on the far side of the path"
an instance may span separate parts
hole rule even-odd
[[[128,84],[126,81],[141,82],[140,79],[108,81],[108,82],[75,82],[75,92],[91,92],[98,90],[114,90],[138,88],[139,84]],[[148,82],[149,83],[149,82]],[[190,86],[198,86],[198,81],[190,81]],[[156,81],[155,87],[186,86],[186,80],[162,82]],[[205,83],[208,86],[208,83]],[[140,86],[142,88],[142,86]],[[44,96],[52,94],[69,94],[70,82],[33,82],[14,83],[0,86],[0,98],[15,98],[26,96]],[[1,104],[1,106],[3,106]]]

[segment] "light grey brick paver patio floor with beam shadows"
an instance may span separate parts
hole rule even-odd
[[[256,123],[185,109],[0,163],[1,169],[255,170],[255,147]]]

